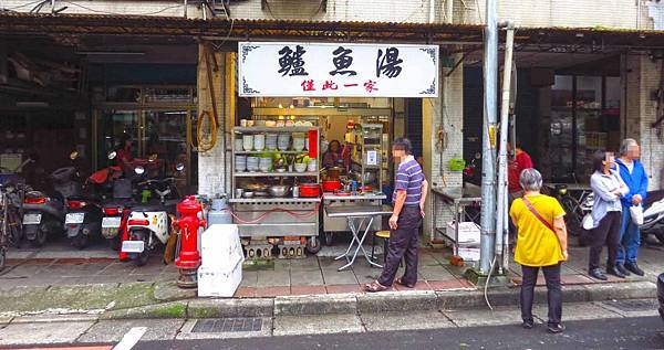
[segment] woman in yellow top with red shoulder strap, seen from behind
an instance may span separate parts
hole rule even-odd
[[[521,265],[521,318],[523,328],[535,326],[532,320],[532,298],[537,275],[540,269],[547,280],[549,303],[548,330],[560,333],[564,326],[562,316],[562,293],[560,290],[560,265],[568,259],[567,229],[564,210],[552,197],[540,193],[542,176],[535,169],[523,169],[519,183],[525,191],[516,199],[509,215],[517,226],[515,261]]]

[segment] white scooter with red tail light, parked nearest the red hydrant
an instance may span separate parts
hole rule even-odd
[[[183,171],[184,166],[178,165],[177,171]],[[136,167],[138,176],[143,176],[145,169]],[[159,197],[158,203],[138,204],[132,209],[127,220],[128,237],[122,242],[122,253],[128,253],[129,258],[136,266],[143,266],[149,258],[149,253],[157,245],[166,244],[170,236],[170,216],[175,214],[175,206],[179,195],[175,187],[175,178],[158,180],[146,180],[138,183],[143,201],[147,202],[147,193]]]

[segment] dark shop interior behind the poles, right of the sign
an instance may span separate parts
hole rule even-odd
[[[618,151],[621,137],[620,54],[516,53],[512,120],[517,146],[546,182],[588,183],[593,151]],[[464,158],[481,151],[481,66],[464,68]],[[471,127],[478,126],[478,127]],[[476,162],[481,167],[481,161]],[[475,171],[476,174],[481,172]],[[467,181],[479,183],[479,178]]]

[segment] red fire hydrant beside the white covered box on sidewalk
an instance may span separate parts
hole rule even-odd
[[[175,258],[180,276],[177,285],[180,288],[196,288],[198,286],[197,269],[200,266],[200,254],[198,253],[198,227],[207,225],[205,220],[198,219],[203,212],[203,205],[194,195],[188,195],[181,203],[177,204],[180,213],[179,220],[174,220],[173,225],[179,227],[180,251]]]

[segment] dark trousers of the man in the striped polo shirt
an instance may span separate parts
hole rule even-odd
[[[390,287],[394,283],[396,271],[402,258],[406,259],[406,272],[402,282],[406,285],[417,283],[417,233],[422,225],[419,205],[404,206],[400,213],[397,229],[390,232],[390,246],[383,273],[378,278],[382,286]]]

